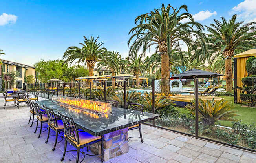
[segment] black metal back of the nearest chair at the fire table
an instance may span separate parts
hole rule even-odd
[[[73,118],[64,116],[61,112],[59,112],[59,114],[64,125],[64,133],[66,137],[79,144],[78,130]]]

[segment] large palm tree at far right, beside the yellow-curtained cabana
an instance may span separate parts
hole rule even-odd
[[[214,58],[223,55],[225,59],[225,75],[227,81],[227,92],[232,92],[232,57],[234,51],[238,49],[248,50],[255,45],[256,31],[253,27],[256,22],[246,23],[236,22],[236,14],[227,22],[224,17],[222,21],[214,19],[215,24],[206,26],[210,32],[209,52],[214,54]],[[243,25],[242,25],[243,24]]]

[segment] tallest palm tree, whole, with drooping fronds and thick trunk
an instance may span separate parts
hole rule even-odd
[[[183,12],[185,10],[185,12]],[[203,25],[194,22],[191,14],[187,13],[188,8],[182,5],[174,8],[170,4],[165,7],[162,4],[160,9],[154,9],[150,13],[142,14],[135,19],[136,27],[133,27],[128,40],[130,46],[129,56],[135,56],[142,49],[141,56],[145,56],[147,49],[152,45],[157,45],[156,52],[161,54],[161,91],[169,93],[169,55],[174,46],[179,45],[182,40],[190,50],[190,40],[192,36],[203,36],[201,33]],[[183,21],[187,21],[184,22]]]

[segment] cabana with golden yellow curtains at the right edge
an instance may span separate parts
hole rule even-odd
[[[243,87],[242,78],[247,77],[246,61],[249,57],[256,56],[256,49],[251,49],[234,55],[234,103],[240,103],[240,93]]]

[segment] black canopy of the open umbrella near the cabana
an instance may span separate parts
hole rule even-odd
[[[223,76],[214,72],[203,71],[199,69],[191,69],[181,74],[172,76],[170,79],[195,79],[195,78],[215,78]]]

